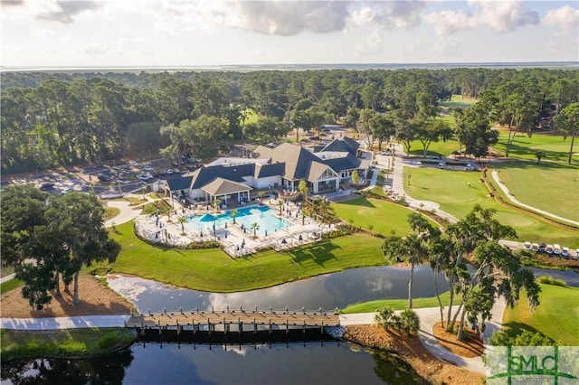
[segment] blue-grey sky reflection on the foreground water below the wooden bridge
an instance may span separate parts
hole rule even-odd
[[[397,359],[387,359],[347,343],[308,343],[244,346],[223,350],[217,346],[147,344],[133,347],[135,361],[126,383],[170,384],[401,384],[414,383]],[[154,371],[151,368],[171,368]]]

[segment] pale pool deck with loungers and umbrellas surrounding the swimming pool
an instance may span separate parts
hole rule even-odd
[[[191,242],[203,242],[208,240],[217,240],[223,245],[223,251],[233,258],[253,254],[261,249],[292,249],[300,245],[314,242],[321,238],[321,234],[335,230],[334,225],[322,225],[321,223],[307,217],[302,225],[299,207],[294,202],[286,202],[282,208],[280,216],[280,207],[277,200],[264,199],[263,205],[271,209],[271,214],[277,218],[283,218],[289,222],[289,227],[268,233],[268,235],[257,234],[253,238],[253,232],[247,227],[242,228],[241,223],[233,224],[227,222],[225,225],[218,225],[215,230],[199,231],[191,229],[185,222],[185,232],[182,230],[181,223],[178,222],[180,217],[189,217],[191,215],[203,215],[206,213],[216,214],[214,210],[203,208],[186,208],[179,204],[179,208],[171,213],[171,221],[167,215],[139,215],[135,219],[135,230],[138,235],[152,242],[163,243],[168,246],[185,248]],[[176,203],[177,205],[177,203]],[[176,206],[177,207],[177,206]],[[248,205],[245,207],[252,207]],[[219,211],[223,212],[223,211]],[[243,230],[245,229],[245,230]]]

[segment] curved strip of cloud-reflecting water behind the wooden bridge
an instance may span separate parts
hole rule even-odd
[[[109,286],[127,297],[141,312],[159,311],[164,308],[176,310],[183,308],[225,309],[267,308],[296,309],[302,306],[313,310],[342,308],[356,302],[384,298],[407,298],[407,268],[379,267],[355,268],[339,273],[311,277],[305,280],[273,286],[260,290],[238,293],[207,293],[160,284],[139,277],[109,277]],[[442,276],[437,277],[439,290],[448,290],[448,283]],[[428,266],[414,271],[413,296],[433,296],[434,274]]]

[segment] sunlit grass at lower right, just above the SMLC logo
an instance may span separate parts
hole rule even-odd
[[[579,288],[553,285],[541,286],[540,305],[531,312],[527,295],[522,292],[518,304],[507,308],[503,324],[510,336],[523,330],[540,332],[568,345],[579,345]]]

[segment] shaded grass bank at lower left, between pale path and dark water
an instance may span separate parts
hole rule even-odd
[[[105,354],[126,346],[135,335],[126,328],[52,331],[0,330],[2,361],[24,358],[76,358]]]

